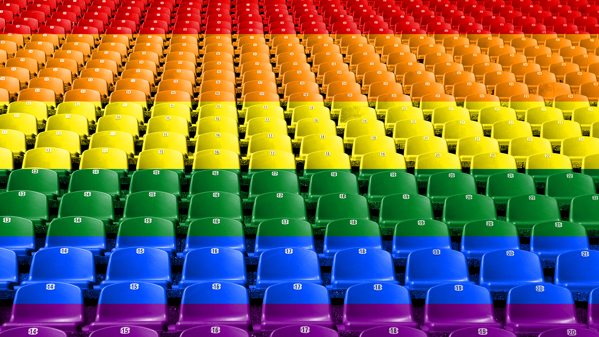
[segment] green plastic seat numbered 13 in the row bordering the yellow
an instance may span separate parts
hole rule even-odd
[[[7,191],[36,191],[56,199],[60,194],[58,173],[48,169],[14,170],[8,176]]]

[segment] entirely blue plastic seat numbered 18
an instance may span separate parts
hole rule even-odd
[[[364,282],[399,284],[389,252],[374,248],[349,248],[338,251],[331,270],[332,288],[349,288]]]

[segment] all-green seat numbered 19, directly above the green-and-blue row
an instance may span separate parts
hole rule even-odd
[[[398,222],[410,219],[432,219],[432,203],[425,195],[391,194],[380,203],[380,227],[394,228]]]

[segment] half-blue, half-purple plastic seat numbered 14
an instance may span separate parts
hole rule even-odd
[[[41,282],[24,285],[17,290],[10,321],[2,324],[1,329],[41,325],[65,332],[79,332],[83,322],[81,288],[63,282]]]

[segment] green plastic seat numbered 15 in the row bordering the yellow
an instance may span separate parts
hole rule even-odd
[[[171,170],[137,170],[131,176],[129,193],[162,191],[181,198],[179,174]]]

